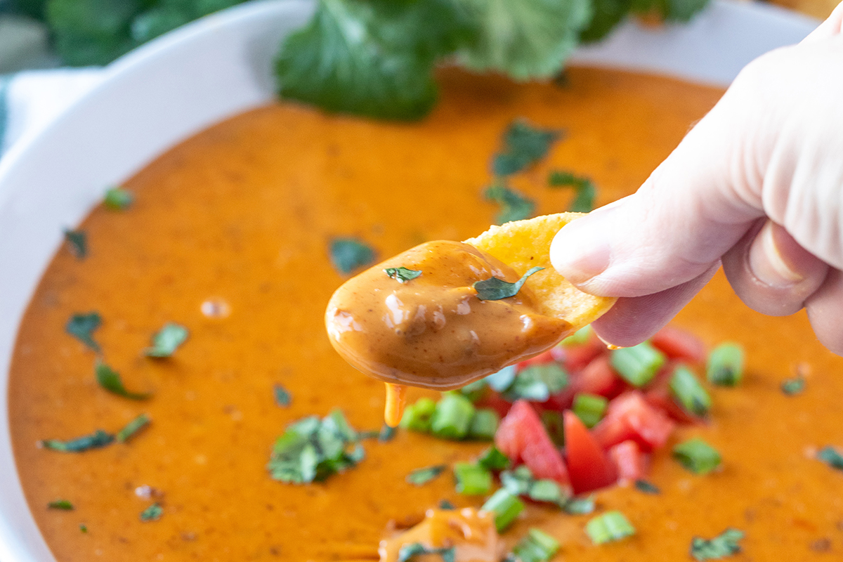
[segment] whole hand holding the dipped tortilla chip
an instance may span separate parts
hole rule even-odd
[[[750,307],[807,308],[843,355],[843,3],[799,45],[751,62],[634,195],[550,248],[583,291],[621,297],[593,326],[635,345],[721,265]]]

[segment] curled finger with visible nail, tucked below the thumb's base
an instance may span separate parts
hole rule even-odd
[[[829,266],[775,222],[761,220],[723,256],[734,292],[760,313],[787,316],[819,289]]]

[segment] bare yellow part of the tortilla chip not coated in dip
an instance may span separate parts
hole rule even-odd
[[[583,217],[581,212],[561,212],[526,221],[507,222],[491,227],[476,238],[465,240],[475,248],[495,256],[518,275],[531,267],[544,267],[529,277],[527,285],[541,303],[542,313],[562,318],[580,329],[602,316],[617,300],[615,297],[594,297],[582,292],[556,273],[550,265],[550,242],[568,222]]]

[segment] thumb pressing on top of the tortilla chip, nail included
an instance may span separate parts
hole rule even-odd
[[[744,179],[747,150],[732,132],[728,98],[634,195],[556,234],[550,261],[562,276],[596,295],[662,292],[705,274],[764,215],[760,179]]]

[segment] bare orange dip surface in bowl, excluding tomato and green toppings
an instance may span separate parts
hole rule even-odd
[[[572,68],[564,87],[442,78],[441,103],[417,124],[273,104],[213,126],[127,181],[131,208],[94,209],[81,225],[87,259],[56,254],[21,324],[8,392],[19,476],[57,559],[375,560],[390,528],[420,522],[440,500],[481,506],[456,494],[448,473],[423,486],[405,476],[475,458],[486,443],[403,430],[365,442],[366,458],[325,483],[267,474],[272,444],[294,420],[340,408],[358,430],[383,422],[383,383],[349,366],[325,335],[325,305],[345,280],[330,265],[330,240],[360,238],[384,259],[483,232],[497,214],[481,197],[491,154],[518,117],[566,131],[545,162],[513,179],[537,213],[572,199],[546,185],[549,169],[590,176],[603,205],[636,190],[722,92],[588,68]],[[202,313],[209,301],[212,317]],[[99,388],[94,353],[65,333],[72,313],[93,310],[105,361],[151,399]],[[190,339],[172,358],[142,356],[170,321]],[[843,445],[843,360],[819,345],[804,313],[754,313],[721,274],[676,324],[710,346],[744,345],[747,373],[738,388],[711,389],[708,426],[680,428],[656,453],[649,480],[660,495],[595,495],[596,514],[623,511],[636,535],[594,546],[583,532],[593,516],[531,505],[502,535],[507,548],[540,527],[561,541],[557,560],[684,560],[694,536],[737,527],[743,553],[730,560],[839,559],[843,474],[813,453]],[[779,385],[799,363],[811,367],[807,388],[786,396]],[[292,394],[287,408],[275,404],[276,383]],[[436,393],[408,390],[410,401],[422,395]],[[126,444],[36,447],[117,431],[144,412],[152,425]],[[696,476],[670,458],[690,436],[721,452],[722,471]],[[139,497],[141,486],[160,495]],[[75,510],[48,510],[59,498]],[[140,521],[153,500],[162,517]]]

